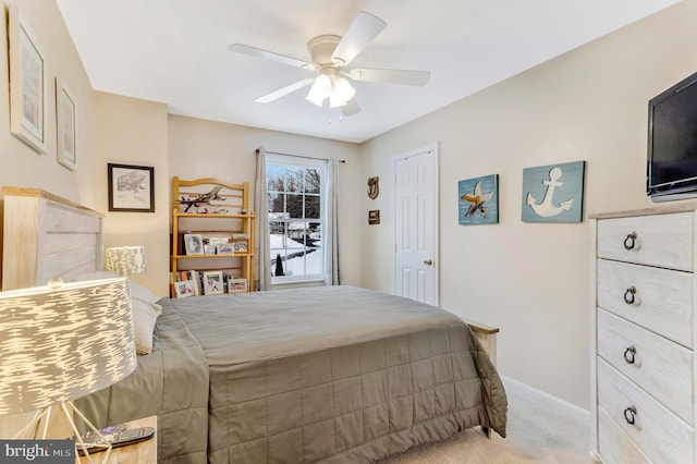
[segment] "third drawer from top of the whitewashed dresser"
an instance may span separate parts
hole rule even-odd
[[[690,350],[598,309],[598,355],[692,424]]]

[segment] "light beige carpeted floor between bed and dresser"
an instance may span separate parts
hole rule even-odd
[[[392,456],[381,464],[518,464],[595,463],[590,457],[590,426],[530,401],[515,389],[509,396],[508,437],[492,440],[479,428],[428,447]]]

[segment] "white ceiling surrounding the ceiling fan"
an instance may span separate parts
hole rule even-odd
[[[57,0],[93,87],[169,112],[363,142],[677,0]],[[353,66],[426,70],[425,87],[354,82],[363,111],[340,118],[298,90],[313,72],[234,53],[234,42],[309,61],[307,41],[343,35],[358,11],[387,22]]]

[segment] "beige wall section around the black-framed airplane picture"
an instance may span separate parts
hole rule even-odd
[[[108,212],[105,248],[144,245],[147,271],[131,278],[157,295],[169,295],[169,154],[167,106],[95,93],[97,204],[109,209],[108,163],[152,167],[155,212]]]

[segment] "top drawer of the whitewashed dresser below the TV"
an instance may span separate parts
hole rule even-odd
[[[693,212],[601,219],[598,256],[692,271]]]

